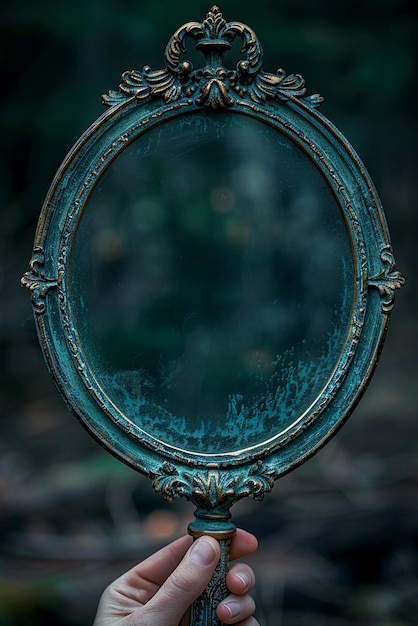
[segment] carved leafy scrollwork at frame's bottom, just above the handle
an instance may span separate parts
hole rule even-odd
[[[211,468],[188,472],[165,461],[157,472],[151,473],[154,491],[165,500],[172,502],[181,496],[204,509],[230,507],[247,496],[260,501],[273,489],[277,477],[277,470],[261,461],[240,472]]]

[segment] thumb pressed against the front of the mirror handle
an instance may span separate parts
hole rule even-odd
[[[219,543],[203,536],[192,544],[181,563],[143,607],[141,624],[178,626],[189,606],[202,593],[215,571]]]

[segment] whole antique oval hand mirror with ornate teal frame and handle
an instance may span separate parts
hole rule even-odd
[[[231,506],[349,416],[403,278],[364,166],[301,76],[264,71],[251,28],[213,7],[165,66],[103,96],[22,282],[70,409],[166,500],[192,501],[193,536],[220,540],[192,617],[216,624]]]

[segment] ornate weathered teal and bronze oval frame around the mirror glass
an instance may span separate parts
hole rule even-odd
[[[243,58],[231,69],[225,67],[223,55],[235,39],[242,41]],[[198,69],[185,60],[190,43],[203,53]],[[282,69],[265,72],[253,30],[226,22],[217,7],[202,23],[189,22],[174,33],[164,69],[146,66],[124,72],[119,89],[103,96],[103,102],[108,110],[82,135],[55,176],[22,283],[32,294],[49,371],[69,408],[100,444],[149,476],[166,500],[183,496],[195,504],[196,521],[190,526],[194,536],[210,533],[227,542],[234,531],[232,504],[246,496],[261,500],[278,477],[319,450],[351,414],[377,364],[395,292],[404,280],[395,271],[373,183],[348,141],[317,111],[322,98],[307,95],[299,75],[288,76]],[[315,402],[275,436],[224,454],[183,450],[126,419],[91,372],[69,287],[79,222],[108,167],[148,131],[202,112],[212,118],[228,114],[258,120],[309,157],[343,215],[355,284],[344,347]],[[226,552],[224,560],[221,568],[227,567]],[[220,593],[219,587],[212,589],[203,605],[216,606]],[[208,609],[203,605],[195,607],[195,624],[206,623],[202,615]]]

